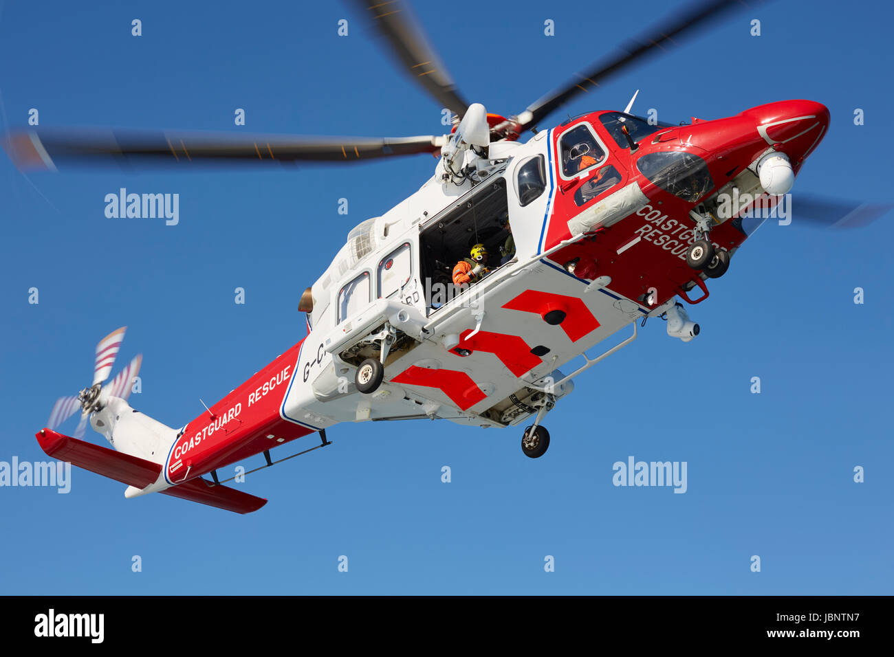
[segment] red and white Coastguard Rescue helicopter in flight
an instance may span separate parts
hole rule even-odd
[[[674,338],[698,334],[678,299],[697,304],[708,297],[708,280],[727,271],[763,221],[749,217],[749,208],[772,206],[787,193],[829,128],[829,110],[809,100],[682,125],[638,118],[631,100],[623,112],[537,128],[570,98],[741,3],[690,5],[508,119],[460,97],[403,3],[361,4],[409,74],[456,115],[451,134],[234,139],[21,131],[7,139],[17,164],[49,169],[103,157],[183,168],[222,160],[438,157],[434,175],[350,231],[332,265],[304,291],[305,338],[206,413],[173,428],[127,402],[139,357],[105,383],[121,346],[119,329],[97,346],[92,386],[59,400],[38,432],[48,455],[128,484],[129,498],[165,493],[240,513],[266,500],[223,486],[219,468],[260,453],[272,465],[271,448],[308,434],[320,434],[310,448],[318,449],[338,422],[525,423],[522,449],[539,457],[550,441],[544,416],[576,376],[636,339],[637,322],[661,316]],[[526,131],[534,134],[521,142]],[[479,263],[474,284],[457,287],[453,265],[476,244],[493,256]],[[631,326],[623,341],[586,354]],[[580,357],[579,366],[569,365]],[[79,409],[75,436],[57,433]],[[114,450],[80,440],[88,419]]]

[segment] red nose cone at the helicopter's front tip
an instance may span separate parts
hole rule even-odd
[[[829,108],[813,100],[783,100],[742,113],[755,120],[758,134],[793,162],[813,152],[829,130]]]

